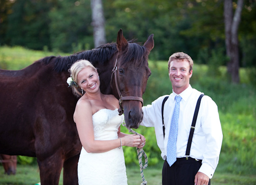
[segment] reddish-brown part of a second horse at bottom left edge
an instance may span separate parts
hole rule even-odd
[[[0,163],[3,164],[5,174],[15,175],[17,169],[17,156],[0,154]]]

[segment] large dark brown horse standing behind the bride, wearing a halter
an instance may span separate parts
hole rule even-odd
[[[36,157],[41,185],[58,185],[62,169],[63,185],[78,185],[82,145],[73,121],[78,98],[66,83],[68,69],[89,60],[98,69],[101,92],[114,94],[126,125],[138,128],[153,47],[153,34],[142,46],[119,30],[116,43],[44,57],[17,71],[0,70],[0,153]]]

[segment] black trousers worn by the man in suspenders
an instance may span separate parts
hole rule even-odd
[[[195,185],[195,175],[202,165],[202,160],[196,161],[189,158],[178,158],[177,161],[169,166],[167,161],[164,161],[162,172],[163,185]],[[209,180],[208,185],[211,185]]]

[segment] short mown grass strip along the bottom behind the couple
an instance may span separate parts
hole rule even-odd
[[[162,185],[162,162],[156,166],[148,166],[143,170],[148,185]],[[142,183],[140,168],[137,165],[127,166],[128,185],[140,185]],[[63,185],[62,174],[59,185]],[[37,165],[18,165],[16,175],[4,174],[0,166],[0,185],[35,185],[40,182],[39,169]],[[256,185],[255,175],[239,175],[232,173],[214,173],[211,180],[212,185]]]

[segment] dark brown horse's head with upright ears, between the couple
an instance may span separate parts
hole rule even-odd
[[[153,34],[143,46],[140,46],[137,43],[128,43],[120,30],[116,44],[118,55],[113,69],[115,77],[112,84],[113,91],[119,95],[126,125],[129,128],[138,128],[143,118],[142,94],[146,90],[151,74],[148,55],[154,47]],[[115,82],[117,82],[116,85]],[[121,110],[120,113],[122,113]]]

